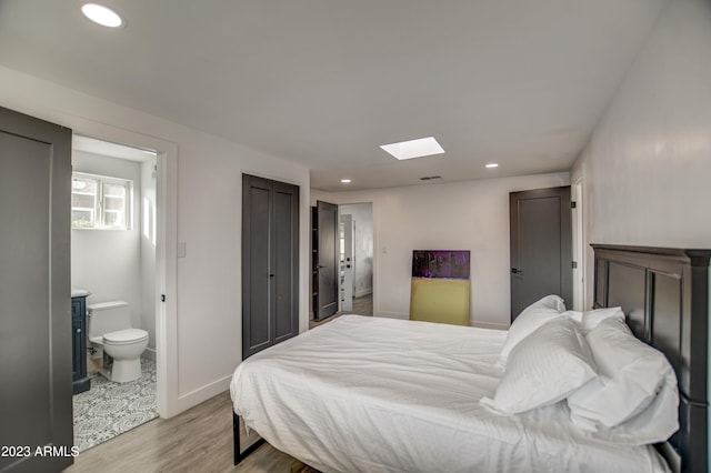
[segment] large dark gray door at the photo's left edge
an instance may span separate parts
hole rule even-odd
[[[70,184],[71,130],[0,108],[2,472],[73,462]]]

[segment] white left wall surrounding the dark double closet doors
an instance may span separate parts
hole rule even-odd
[[[241,360],[243,171],[300,185],[300,326],[308,328],[307,168],[11,69],[0,67],[0,83],[2,107],[122,144],[137,144],[127,142],[126,137],[166,143],[170,153],[177,154],[169,155],[177,161],[169,168],[177,169],[168,179],[169,185],[177,184],[159,190],[168,195],[177,192],[177,202],[168,202],[169,210],[177,205],[177,214],[168,212],[166,248],[174,249],[176,240],[187,244],[186,258],[167,255],[167,265],[176,269],[177,283],[174,292],[167,294],[166,304],[174,306],[174,313],[166,313],[159,323],[166,325],[169,344],[169,406],[163,415],[173,415],[224,391]],[[102,135],[97,137],[92,132],[96,130]],[[167,286],[170,289],[170,284]]]

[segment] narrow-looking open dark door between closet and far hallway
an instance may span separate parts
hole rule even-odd
[[[317,320],[338,311],[338,205],[318,201],[319,229]]]

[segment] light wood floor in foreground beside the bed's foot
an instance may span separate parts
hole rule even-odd
[[[318,473],[268,443],[234,466],[229,392],[89,449],[64,472]]]

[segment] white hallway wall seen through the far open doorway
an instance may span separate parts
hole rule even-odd
[[[373,292],[373,204],[368,202],[339,205],[338,212],[341,215],[350,214],[354,222],[353,295],[361,298]]]

